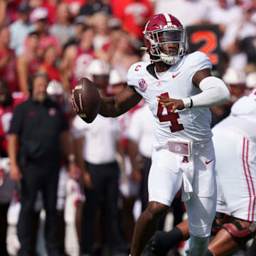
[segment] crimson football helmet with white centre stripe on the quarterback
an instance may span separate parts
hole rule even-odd
[[[144,29],[144,50],[154,62],[174,65],[186,53],[186,30],[171,14],[156,14]]]

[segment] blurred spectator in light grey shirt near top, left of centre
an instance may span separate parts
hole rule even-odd
[[[57,7],[57,22],[49,28],[50,35],[55,36],[63,46],[75,36],[75,27],[71,25],[68,4],[61,2]]]

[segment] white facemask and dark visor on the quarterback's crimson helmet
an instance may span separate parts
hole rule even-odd
[[[186,30],[184,28],[145,31],[144,38],[150,43],[149,55],[154,62],[162,61],[168,65],[174,65],[186,53]]]

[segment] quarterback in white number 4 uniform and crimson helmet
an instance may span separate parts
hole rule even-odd
[[[186,255],[204,255],[216,208],[209,107],[228,102],[230,93],[211,75],[204,53],[186,54],[186,31],[174,16],[151,18],[144,42],[151,61],[132,65],[129,86],[114,97],[102,97],[100,108],[103,116],[117,117],[144,97],[155,119],[149,204],[137,220],[131,255],[142,254],[180,188],[191,233]]]

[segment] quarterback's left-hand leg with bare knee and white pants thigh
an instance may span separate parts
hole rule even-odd
[[[181,188],[182,174],[175,154],[162,149],[154,151],[149,171],[149,204],[137,220],[132,238],[132,256],[142,254],[144,246],[156,231],[159,218],[171,206]]]

